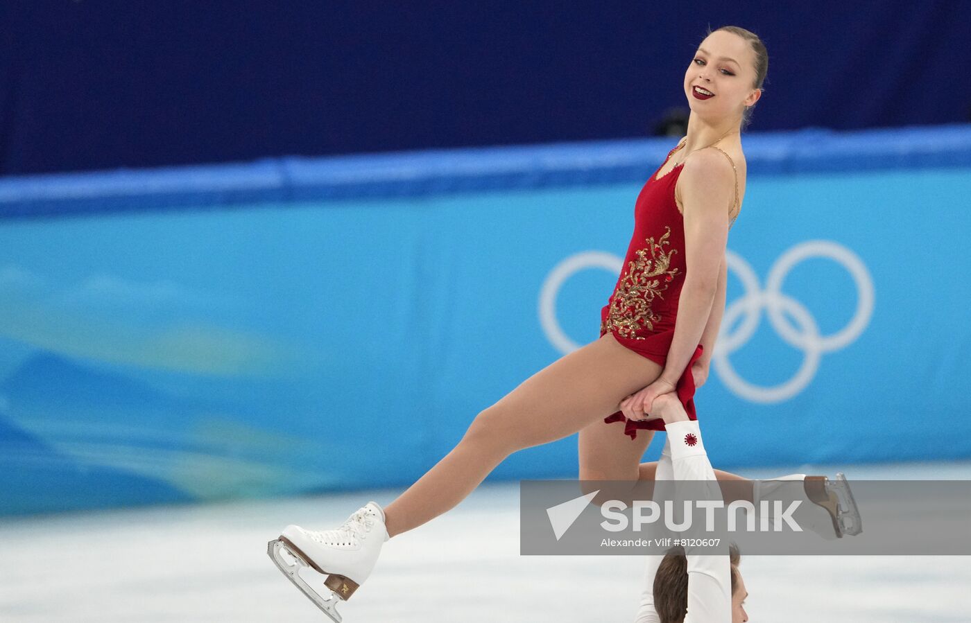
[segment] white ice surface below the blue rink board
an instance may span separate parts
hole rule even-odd
[[[851,478],[971,478],[971,464],[815,466]],[[743,472],[770,477],[805,466]],[[324,621],[266,555],[286,524],[333,528],[399,491],[0,522],[2,621]],[[865,519],[864,519],[865,521]],[[385,543],[346,623],[633,620],[643,559],[520,556],[519,484],[486,484]],[[962,556],[743,557],[753,623],[968,621]]]

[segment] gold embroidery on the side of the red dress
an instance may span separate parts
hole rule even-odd
[[[610,311],[606,322],[600,323],[600,331],[616,329],[620,337],[645,340],[637,335],[641,329],[653,331],[654,323],[661,317],[651,309],[654,297],[663,299],[661,292],[678,274],[677,268],[671,268],[671,256],[678,252],[672,248],[665,250],[671,244],[671,227],[656,243],[654,237],[648,238],[646,248],[637,249],[638,259],[627,262],[625,275],[621,275],[614,296],[610,300]],[[651,257],[648,257],[648,253]]]

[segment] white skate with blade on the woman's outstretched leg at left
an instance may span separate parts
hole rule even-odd
[[[387,539],[385,511],[369,502],[337,530],[315,532],[286,526],[280,539],[268,543],[267,553],[297,588],[335,623],[340,623],[338,601],[351,599],[364,583]],[[328,596],[318,593],[301,577],[300,570],[308,567],[327,576],[323,585],[330,589]]]

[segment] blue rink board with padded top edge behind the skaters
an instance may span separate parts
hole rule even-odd
[[[971,131],[744,141],[713,463],[971,457]],[[673,144],[0,180],[0,513],[409,484],[596,338]],[[572,437],[491,477],[576,472]]]

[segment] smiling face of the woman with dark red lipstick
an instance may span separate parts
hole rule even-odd
[[[741,117],[762,94],[754,87],[754,63],[755,52],[745,39],[724,30],[708,35],[685,72],[685,95],[691,112],[710,123],[726,116]]]

